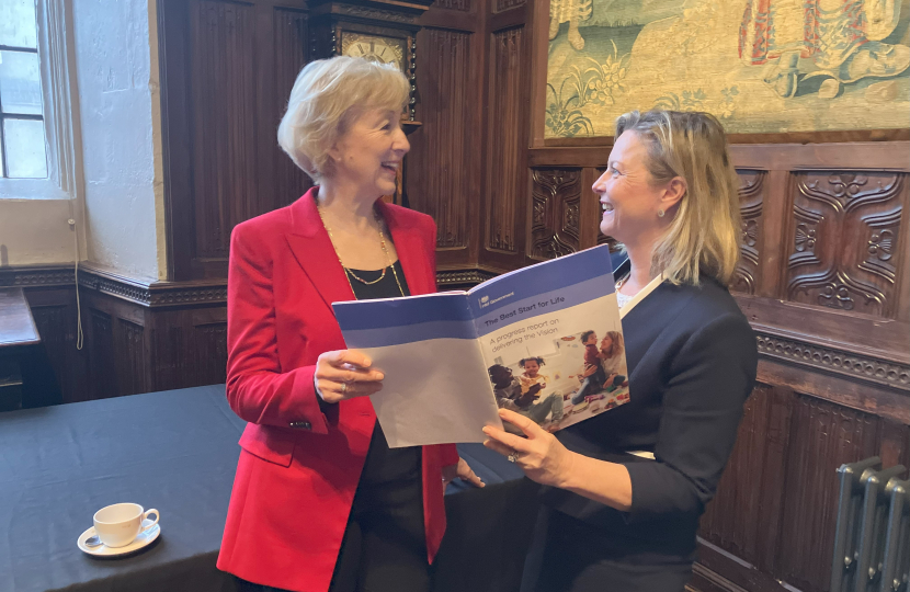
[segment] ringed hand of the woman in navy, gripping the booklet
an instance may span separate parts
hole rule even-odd
[[[484,428],[484,433],[489,440],[486,440],[484,445],[502,456],[514,455],[515,464],[530,479],[543,485],[562,487],[571,473],[575,454],[556,440],[556,436],[524,415],[500,409],[499,417],[517,426],[527,439],[487,426]]]

